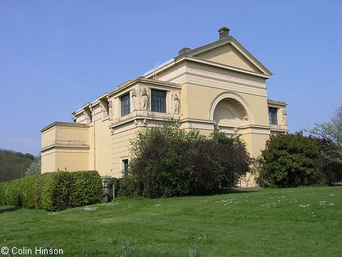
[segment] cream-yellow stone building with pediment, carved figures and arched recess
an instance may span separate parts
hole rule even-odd
[[[271,72],[232,36],[178,56],[99,96],[73,113],[74,123],[55,122],[42,129],[42,173],[96,170],[122,176],[130,139],[165,119],[183,129],[209,134],[215,127],[241,134],[253,156],[269,135],[287,133],[286,104],[267,99]],[[254,185],[247,176],[242,186]]]

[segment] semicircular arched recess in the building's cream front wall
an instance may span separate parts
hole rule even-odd
[[[231,91],[223,92],[212,101],[209,110],[209,120],[215,125],[239,127],[254,124],[254,116],[247,102]]]

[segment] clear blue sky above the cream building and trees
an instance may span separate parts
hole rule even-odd
[[[0,0],[0,148],[38,154],[41,129],[227,26],[274,75],[291,132],[342,104],[342,1]]]

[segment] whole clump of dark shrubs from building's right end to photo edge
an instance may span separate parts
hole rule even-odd
[[[341,179],[341,163],[331,158],[333,144],[303,133],[271,136],[261,151],[260,186],[309,186]],[[332,151],[334,152],[334,151]]]

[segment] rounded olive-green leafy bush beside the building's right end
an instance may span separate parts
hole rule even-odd
[[[298,186],[315,183],[319,153],[318,141],[303,133],[271,136],[261,151],[261,168],[257,183],[260,186]]]

